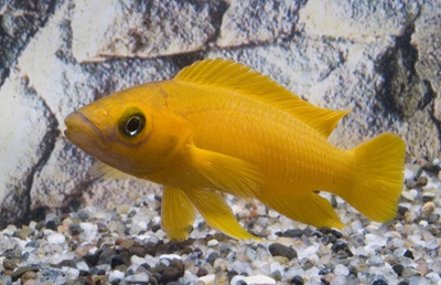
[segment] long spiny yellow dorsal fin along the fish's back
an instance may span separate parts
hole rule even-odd
[[[316,107],[250,67],[229,60],[204,60],[183,68],[175,82],[234,89],[281,108],[329,137],[348,112]]]

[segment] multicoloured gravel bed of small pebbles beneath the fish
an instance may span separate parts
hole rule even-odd
[[[198,218],[191,239],[171,243],[160,193],[141,204],[49,213],[0,232],[0,284],[441,284],[439,173],[439,161],[408,165],[398,217],[387,224],[330,197],[342,231],[228,197],[259,242],[230,239]]]

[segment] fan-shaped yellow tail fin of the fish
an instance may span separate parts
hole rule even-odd
[[[370,220],[394,219],[404,183],[405,141],[387,133],[349,151],[356,161],[354,183],[338,196]]]

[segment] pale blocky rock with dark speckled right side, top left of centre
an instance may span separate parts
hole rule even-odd
[[[75,1],[73,54],[154,57],[194,52],[215,36],[219,1]],[[89,29],[94,27],[94,29]]]

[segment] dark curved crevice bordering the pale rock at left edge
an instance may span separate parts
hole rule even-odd
[[[37,94],[34,89],[29,88],[26,96],[36,97]],[[26,171],[21,181],[14,183],[14,190],[11,191],[9,196],[7,196],[1,202],[0,229],[11,223],[18,226],[28,224],[33,218],[39,215],[37,213],[33,213],[31,211],[31,190],[34,182],[34,177],[39,171],[41,171],[41,169],[50,159],[52,151],[55,148],[56,139],[61,133],[58,129],[58,122],[54,113],[51,112],[44,98],[39,97],[37,99],[43,105],[45,110],[44,116],[42,117],[46,120],[47,131],[43,136],[43,139],[37,147],[40,156],[39,160]]]

